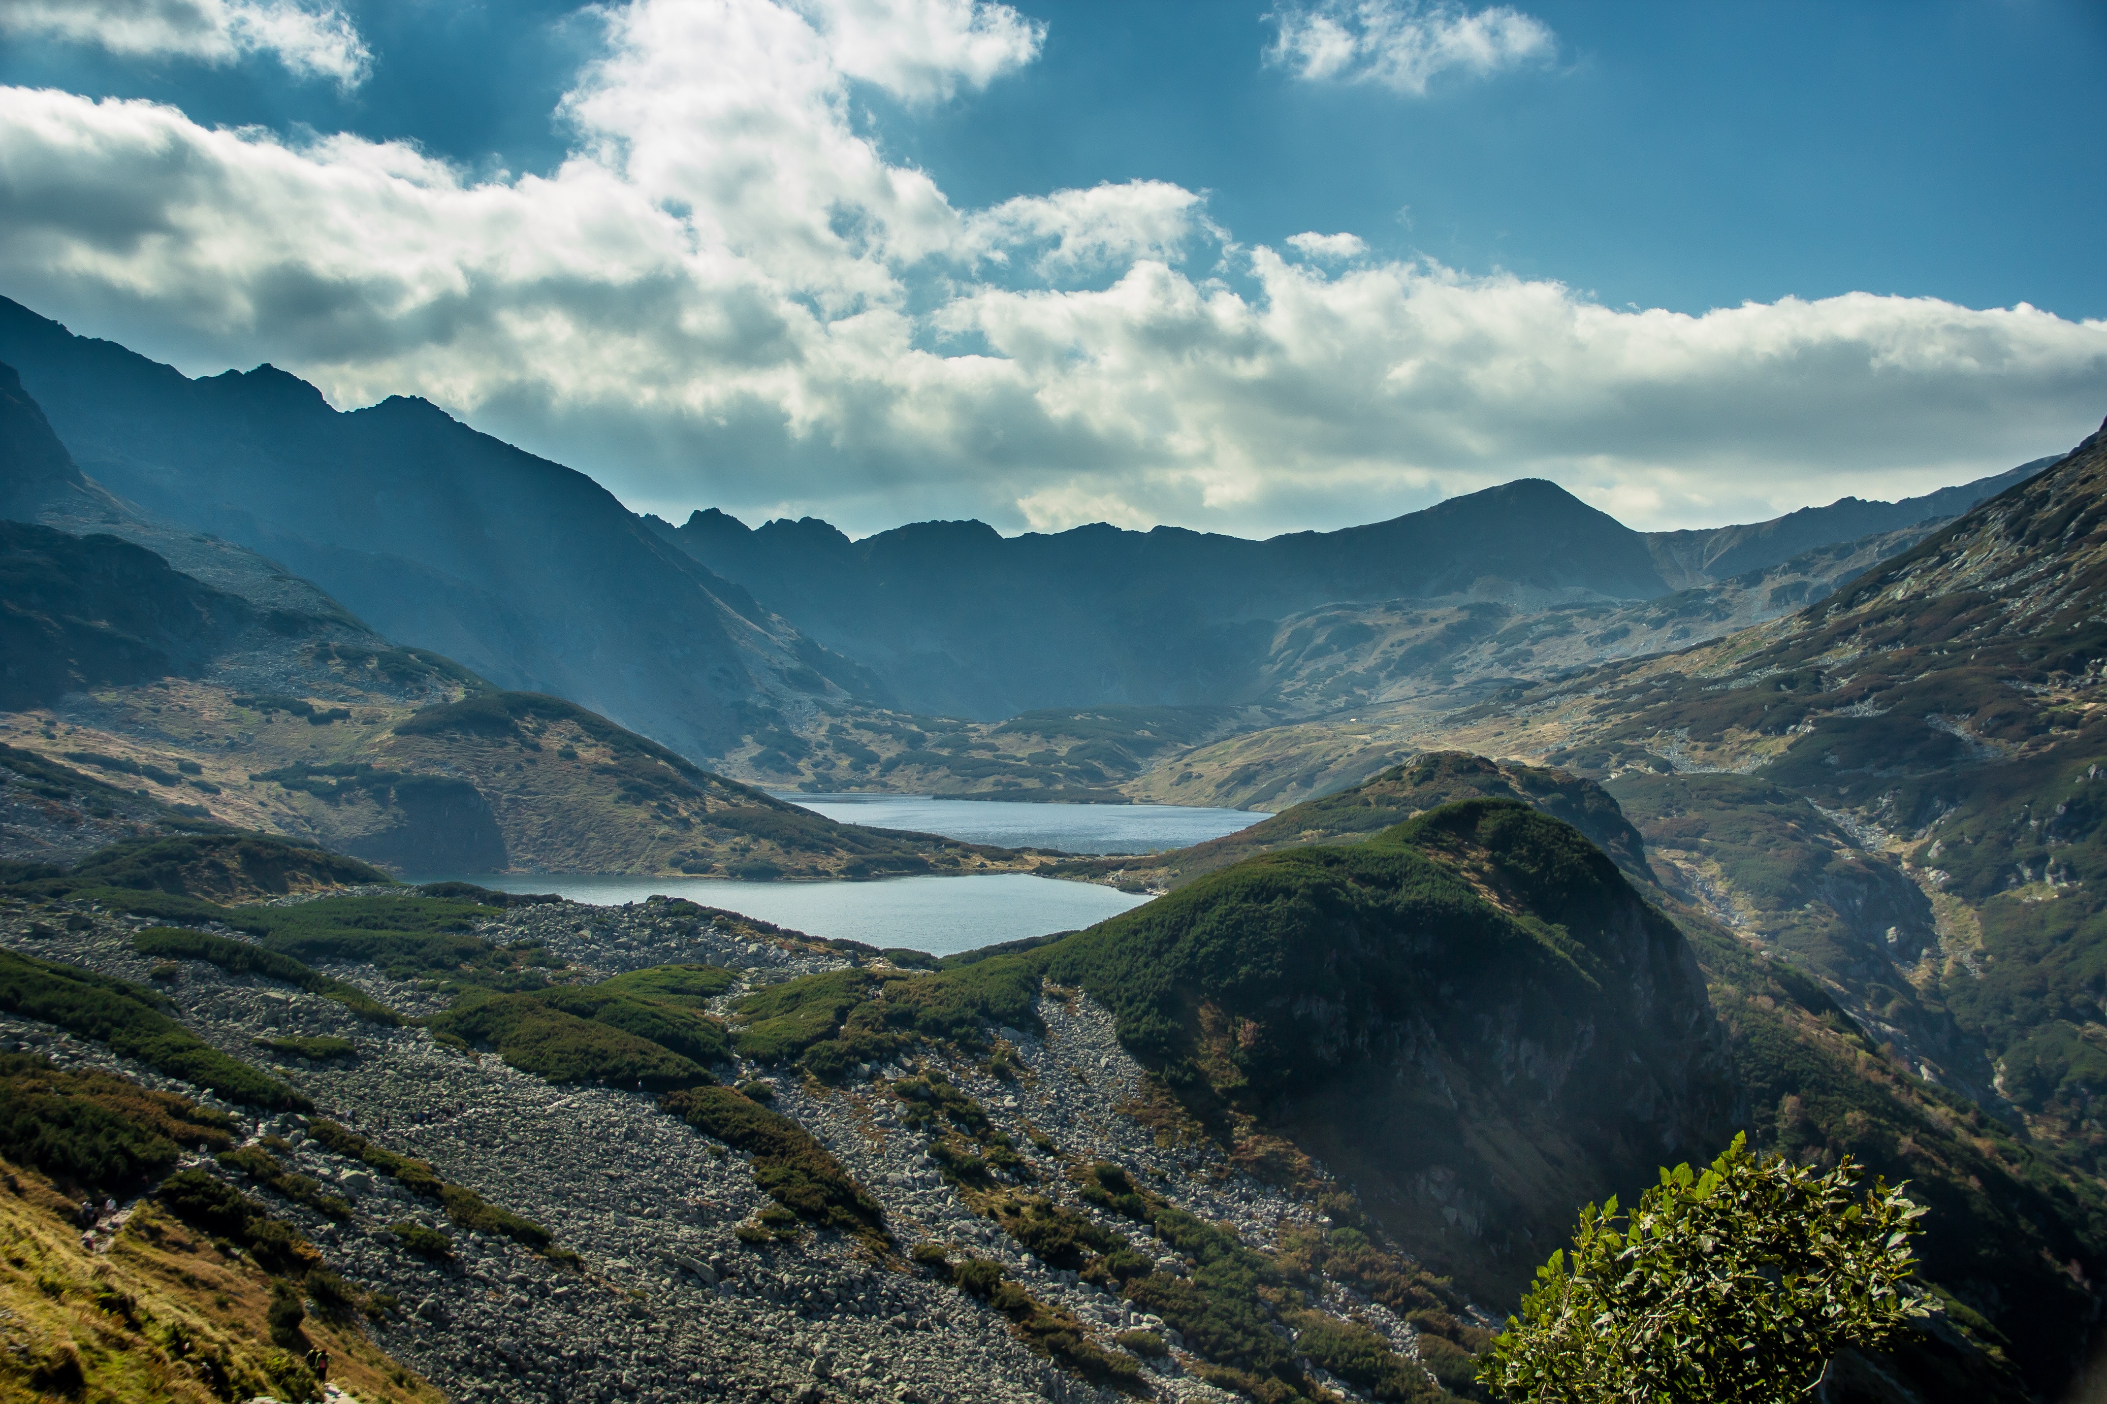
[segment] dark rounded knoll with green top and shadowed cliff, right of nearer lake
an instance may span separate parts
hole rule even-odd
[[[1239,1156],[1321,1158],[1496,1297],[1580,1200],[1705,1154],[1732,1114],[1681,932],[1515,800],[1247,859],[1045,960]]]

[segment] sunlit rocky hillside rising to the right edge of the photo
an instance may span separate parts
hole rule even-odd
[[[2096,1166],[2103,518],[2094,436],[1799,615],[1399,730],[1601,779],[1665,880]]]

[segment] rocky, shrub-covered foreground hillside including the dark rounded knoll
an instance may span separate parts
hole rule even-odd
[[[1473,785],[1629,848],[1570,777],[1435,758],[1376,798]],[[659,899],[223,905],[358,878],[308,853],[135,844],[13,886],[0,1034],[303,1109],[204,1170],[449,1391],[1439,1404],[1578,1202],[1736,1126],[1932,1206],[1945,1313],[1877,1366],[1913,1398],[2054,1393],[2092,1313],[2096,1185],[1515,798],[942,962]],[[154,1175],[120,1177],[135,1221],[190,1202]]]

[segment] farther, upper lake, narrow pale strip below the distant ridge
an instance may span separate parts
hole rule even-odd
[[[1062,853],[1161,853],[1247,829],[1262,815],[1182,804],[1026,804],[931,796],[777,794],[836,823],[942,834],[967,844]]]

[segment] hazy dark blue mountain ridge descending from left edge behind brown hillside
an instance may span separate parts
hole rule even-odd
[[[21,370],[74,459],[139,507],[284,562],[390,638],[607,711],[691,756],[744,709],[866,686],[584,474],[424,400],[333,410],[259,366],[192,381],[0,299]]]

